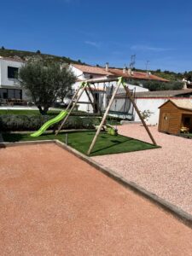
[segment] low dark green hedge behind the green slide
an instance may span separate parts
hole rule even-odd
[[[0,115],[0,131],[37,131],[46,121],[52,119],[49,115]],[[63,129],[94,129],[94,119],[71,116]],[[58,128],[52,125],[49,130]]]

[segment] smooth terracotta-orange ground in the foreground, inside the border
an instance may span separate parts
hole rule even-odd
[[[0,149],[1,255],[192,255],[192,230],[54,144]]]

